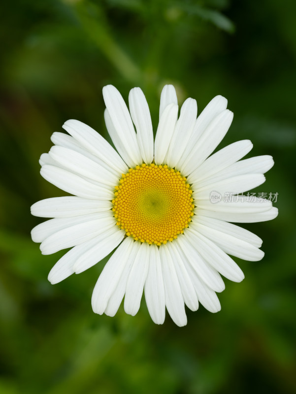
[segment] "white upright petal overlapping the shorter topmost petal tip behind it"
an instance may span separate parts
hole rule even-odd
[[[154,143],[154,160],[157,165],[164,163],[164,158],[177,122],[178,105],[169,104],[160,118]]]

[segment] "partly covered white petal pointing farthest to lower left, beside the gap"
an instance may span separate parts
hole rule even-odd
[[[51,269],[48,275],[49,282],[54,285],[74,273],[73,266],[76,260],[97,243],[97,238],[90,239],[69,250]]]

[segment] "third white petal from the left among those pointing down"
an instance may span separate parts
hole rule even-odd
[[[134,316],[139,310],[149,266],[149,245],[143,242],[132,264],[127,281],[124,308]]]

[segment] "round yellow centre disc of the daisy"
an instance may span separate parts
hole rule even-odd
[[[193,216],[187,179],[167,165],[130,168],[115,186],[112,200],[117,225],[141,242],[161,245],[177,238]]]

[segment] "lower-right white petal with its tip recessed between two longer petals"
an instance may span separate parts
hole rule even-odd
[[[178,243],[191,263],[199,278],[216,292],[222,292],[225,289],[225,284],[219,273],[206,263],[199,255],[191,238],[188,237],[187,231],[183,236],[179,235],[176,243]]]

